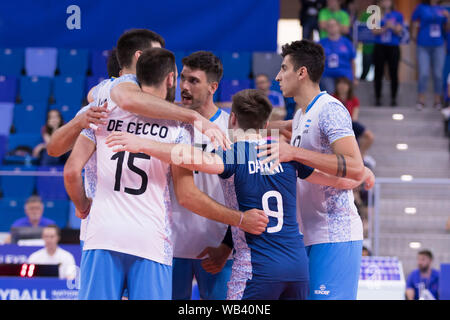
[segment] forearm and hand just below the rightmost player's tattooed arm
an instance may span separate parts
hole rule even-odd
[[[330,186],[336,189],[353,190],[364,183],[364,188],[370,190],[375,184],[375,175],[372,170],[365,167],[364,177],[361,180],[352,180],[348,178],[340,178],[334,175],[322,172],[320,170],[314,170],[313,173],[305,179],[306,181],[314,184],[320,184],[323,186]]]

